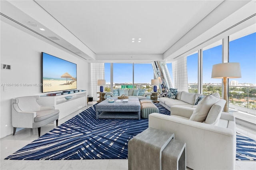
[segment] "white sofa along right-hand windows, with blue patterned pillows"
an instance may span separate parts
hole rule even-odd
[[[201,95],[202,94],[200,93],[188,93],[186,91],[178,91],[176,99],[171,99],[168,97],[159,97],[159,103],[169,111],[171,111],[171,107],[174,105],[182,105],[186,107],[195,108],[195,101]]]

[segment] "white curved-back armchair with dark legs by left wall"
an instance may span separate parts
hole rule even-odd
[[[41,106],[37,103],[39,96],[17,97],[12,99],[12,126],[13,135],[16,128],[38,128],[56,121],[58,126],[59,110],[54,106]]]

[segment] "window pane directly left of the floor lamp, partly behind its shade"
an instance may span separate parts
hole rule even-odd
[[[222,45],[203,50],[203,95],[220,93],[222,79],[212,79],[212,65],[222,63]]]

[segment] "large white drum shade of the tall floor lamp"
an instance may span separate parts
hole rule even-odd
[[[212,66],[212,78],[222,79],[227,78],[240,78],[241,68],[240,63],[220,63]]]

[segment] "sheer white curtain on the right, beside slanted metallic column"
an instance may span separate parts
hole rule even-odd
[[[187,57],[172,62],[174,87],[178,91],[188,91]]]

